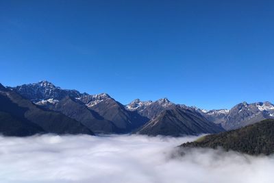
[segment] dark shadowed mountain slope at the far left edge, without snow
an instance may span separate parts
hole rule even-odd
[[[0,132],[10,136],[27,136],[36,133],[93,134],[82,123],[59,112],[43,110],[2,85],[0,119]]]

